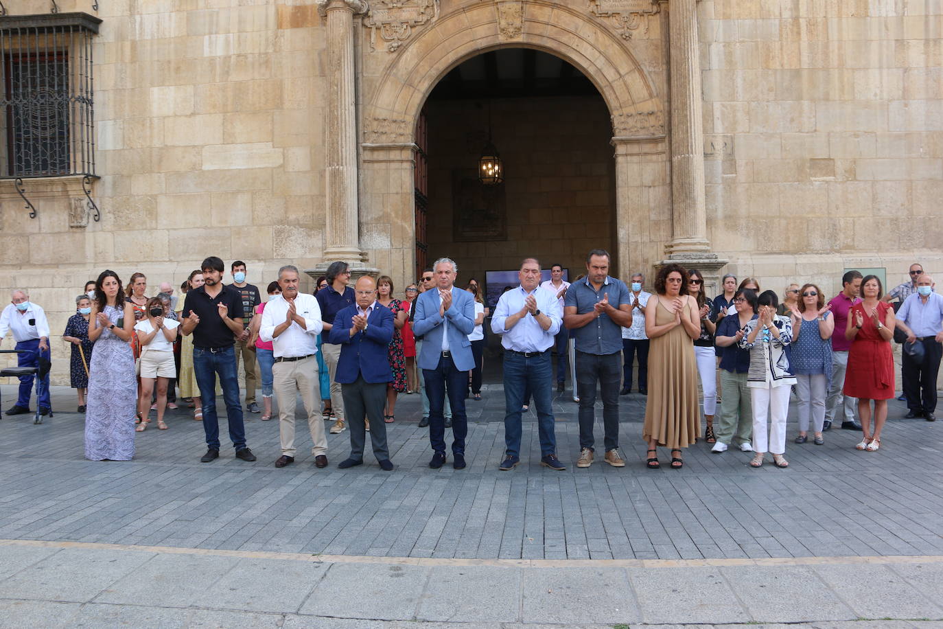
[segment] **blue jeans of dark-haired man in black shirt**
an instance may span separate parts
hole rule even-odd
[[[220,449],[220,422],[216,417],[216,376],[219,374],[226,404],[226,419],[229,421],[229,439],[232,439],[233,446],[239,452],[246,446],[236,351],[231,345],[215,351],[193,347],[193,374],[203,398],[203,430],[207,433],[207,448]]]

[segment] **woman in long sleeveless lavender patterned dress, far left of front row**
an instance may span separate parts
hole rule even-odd
[[[134,308],[124,299],[121,278],[104,271],[95,282],[89,339],[89,405],[85,414],[85,457],[92,461],[129,461],[134,456],[134,409],[138,387],[128,341]],[[121,325],[118,325],[121,323]]]

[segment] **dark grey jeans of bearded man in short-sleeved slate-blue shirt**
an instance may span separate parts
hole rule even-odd
[[[606,451],[619,447],[619,384],[621,355],[576,352],[576,394],[580,397],[580,449],[594,450],[596,383],[603,395],[603,427]]]

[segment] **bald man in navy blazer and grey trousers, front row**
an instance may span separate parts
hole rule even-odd
[[[380,467],[389,472],[393,464],[387,447],[387,424],[383,407],[387,384],[393,379],[388,347],[393,338],[393,315],[376,301],[376,283],[364,276],[356,281],[356,304],[340,310],[330,331],[330,341],[340,346],[338,370],[347,422],[351,427],[351,455],[338,465],[341,469],[363,464],[366,436],[364,417],[370,420],[370,441]]]

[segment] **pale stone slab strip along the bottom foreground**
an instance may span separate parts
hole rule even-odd
[[[16,550],[51,554],[0,580],[0,627],[943,626],[943,591],[929,581],[943,555],[377,562],[0,540],[0,555]],[[49,571],[65,581],[83,570],[81,590],[48,587]]]

